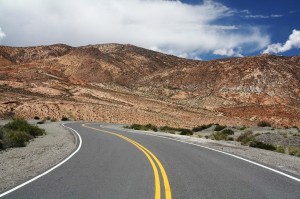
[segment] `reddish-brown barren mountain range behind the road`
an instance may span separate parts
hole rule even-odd
[[[133,45],[0,46],[0,115],[300,126],[300,56],[196,61]]]

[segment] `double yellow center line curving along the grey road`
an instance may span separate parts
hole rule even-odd
[[[148,158],[152,169],[153,169],[153,173],[154,173],[154,181],[155,181],[155,194],[154,194],[154,199],[160,199],[161,198],[161,188],[160,188],[160,178],[159,178],[159,170],[161,172],[162,178],[163,178],[163,182],[164,182],[164,187],[165,187],[165,198],[166,199],[172,199],[172,192],[171,192],[171,187],[170,187],[170,183],[168,180],[168,176],[166,173],[166,170],[164,169],[164,167],[162,166],[161,162],[159,161],[159,159],[151,152],[149,151],[146,147],[144,147],[143,145],[139,144],[138,142],[129,139],[128,137],[125,137],[123,135],[114,133],[114,132],[109,132],[106,130],[100,130],[97,128],[93,128],[90,126],[87,126],[87,124],[82,124],[83,127],[86,128],[90,128],[96,131],[100,131],[100,132],[104,132],[104,133],[108,133],[111,135],[115,135],[117,137],[120,137],[128,142],[130,142],[131,144],[133,144],[135,147],[137,147],[139,150],[141,150],[145,156]],[[156,164],[158,165],[158,168],[156,166]]]

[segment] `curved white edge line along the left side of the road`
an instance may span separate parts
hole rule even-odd
[[[76,133],[76,135],[77,135],[78,138],[79,138],[78,148],[77,148],[71,155],[69,155],[67,158],[65,158],[63,161],[61,161],[60,163],[58,163],[57,165],[55,165],[55,166],[52,167],[51,169],[49,169],[49,170],[45,171],[44,173],[42,173],[42,174],[40,174],[40,175],[38,175],[38,176],[36,176],[36,177],[30,179],[30,180],[28,180],[28,181],[26,181],[26,182],[24,182],[24,183],[18,185],[18,186],[16,186],[16,187],[14,187],[14,188],[12,188],[12,189],[10,189],[10,190],[8,190],[8,191],[6,191],[6,192],[0,194],[0,198],[3,197],[3,196],[5,196],[5,195],[7,195],[7,194],[9,194],[9,193],[11,193],[11,192],[13,192],[13,191],[16,191],[17,189],[20,189],[21,187],[24,187],[25,185],[27,185],[27,184],[29,184],[29,183],[31,183],[31,182],[33,182],[33,181],[39,179],[40,177],[42,177],[42,176],[44,176],[44,175],[50,173],[51,171],[53,171],[53,170],[56,169],[57,167],[61,166],[61,165],[64,164],[65,162],[67,162],[71,157],[73,157],[73,156],[80,150],[81,145],[82,145],[82,139],[81,139],[79,133],[78,133],[77,131],[75,131],[74,129],[68,127],[68,126],[65,126],[64,124],[62,124],[62,126],[65,127],[65,128],[71,129],[71,132],[72,132],[73,134],[74,134],[74,132]],[[74,134],[74,135],[75,135],[75,134]],[[75,139],[77,140],[76,136],[75,136]],[[77,143],[76,143],[76,145],[77,145]]]

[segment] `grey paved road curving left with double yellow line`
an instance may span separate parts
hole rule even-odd
[[[3,198],[300,198],[299,182],[215,151],[99,124],[67,126],[82,137],[78,153]]]

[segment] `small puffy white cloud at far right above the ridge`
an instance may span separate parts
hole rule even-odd
[[[292,34],[289,36],[289,39],[285,44],[276,43],[271,44],[267,47],[263,53],[281,53],[291,50],[293,48],[300,48],[300,31],[293,30]]]

